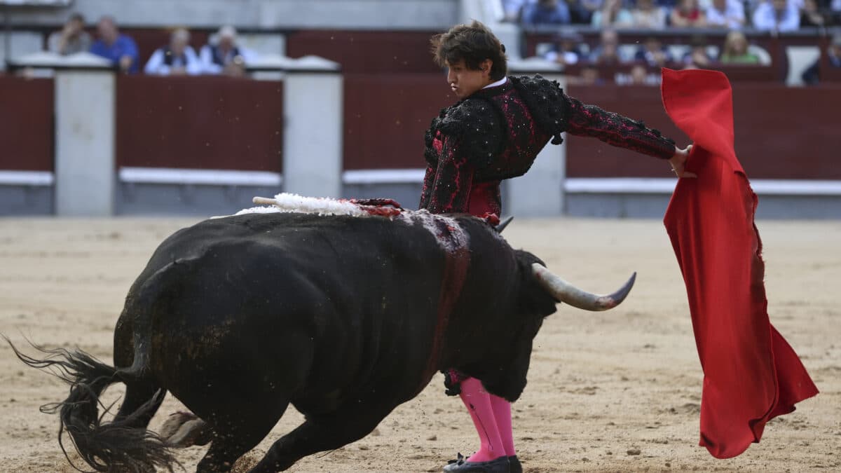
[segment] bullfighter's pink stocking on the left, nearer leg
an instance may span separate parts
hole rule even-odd
[[[494,409],[491,407],[490,395],[484,391],[482,382],[475,378],[462,381],[462,392],[459,395],[464,406],[468,408],[473,426],[479,433],[479,451],[470,455],[470,461],[489,461],[505,455],[500,432],[496,427]],[[510,419],[510,414],[509,414]],[[510,420],[508,421],[510,431]]]

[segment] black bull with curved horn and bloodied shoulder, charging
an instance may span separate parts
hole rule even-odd
[[[114,367],[80,351],[16,353],[71,384],[56,410],[96,470],[172,468],[172,445],[146,430],[166,391],[209,432],[199,471],[230,470],[291,402],[305,422],[253,469],[285,470],[370,433],[436,369],[515,401],[556,303],[610,308],[631,284],[609,296],[569,288],[468,215],[240,215],[158,247],[126,297]],[[98,396],[114,382],[124,401],[100,423]]]

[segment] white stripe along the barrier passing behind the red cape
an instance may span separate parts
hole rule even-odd
[[[570,194],[671,194],[675,178],[568,178],[563,189]],[[841,181],[807,179],[756,179],[756,194],[841,195]]]

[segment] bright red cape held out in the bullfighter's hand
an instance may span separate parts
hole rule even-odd
[[[759,442],[771,418],[817,388],[768,320],[757,198],[733,150],[733,98],[722,72],[663,70],[666,113],[694,143],[664,223],[689,297],[704,370],[701,445],[716,458]]]

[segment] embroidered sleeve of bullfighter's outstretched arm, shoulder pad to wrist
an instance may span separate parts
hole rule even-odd
[[[570,135],[593,136],[612,146],[627,148],[653,157],[669,159],[674,156],[674,140],[658,130],[648,128],[642,121],[608,112],[595,105],[585,105],[567,97],[569,103]]]

